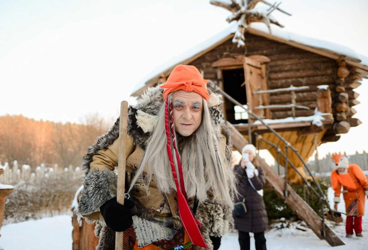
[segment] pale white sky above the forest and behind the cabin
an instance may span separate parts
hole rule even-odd
[[[368,56],[368,1],[283,0],[285,30]],[[230,12],[209,0],[1,0],[0,116],[80,122],[114,119],[134,85],[166,60],[228,27]],[[277,29],[272,25],[272,29]],[[327,151],[368,151],[368,81],[351,128]]]

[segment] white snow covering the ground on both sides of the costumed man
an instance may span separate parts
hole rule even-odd
[[[329,200],[333,200],[333,192],[329,189]],[[332,204],[330,202],[330,204]],[[339,204],[339,211],[344,211],[344,203]],[[304,223],[292,222],[289,228],[273,228],[266,232],[269,250],[367,250],[368,249],[368,204],[363,217],[363,238],[345,237],[345,224],[335,225],[329,222],[330,228],[343,240],[344,246],[331,247],[325,240],[320,240]],[[345,221],[345,216],[343,217]],[[299,230],[307,229],[306,231]],[[0,244],[4,250],[68,250],[72,247],[71,216],[60,215],[5,225],[1,228]],[[254,240],[251,241],[254,248]],[[223,237],[220,250],[239,250],[237,234]]]

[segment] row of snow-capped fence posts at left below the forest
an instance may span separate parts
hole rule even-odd
[[[0,176],[1,184],[17,184],[22,181],[30,182],[30,183],[40,183],[43,178],[48,178],[55,174],[68,174],[75,178],[81,177],[83,175],[81,168],[70,165],[68,168],[60,168],[57,164],[55,164],[52,168],[47,167],[45,164],[41,164],[36,168],[34,172],[32,172],[31,167],[29,165],[22,165],[19,167],[18,162],[13,162],[13,167],[11,168],[8,162],[5,162],[4,165],[1,165],[0,168],[4,169],[3,175]]]

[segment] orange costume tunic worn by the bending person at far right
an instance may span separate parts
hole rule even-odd
[[[346,214],[352,216],[364,215],[365,193],[368,190],[367,176],[356,164],[349,164],[348,173],[341,175],[337,170],[331,173],[332,189],[335,197],[340,197],[341,186],[345,201]]]

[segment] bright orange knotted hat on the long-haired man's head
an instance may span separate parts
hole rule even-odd
[[[208,101],[207,84],[196,67],[191,65],[177,65],[161,88],[164,88],[163,99],[171,92],[183,89],[186,92],[196,92]]]

